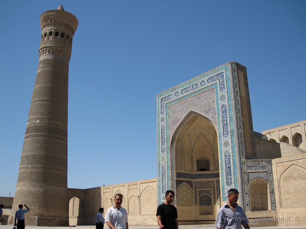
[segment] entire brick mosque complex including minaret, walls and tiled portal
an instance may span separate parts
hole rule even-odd
[[[32,207],[27,225],[94,225],[99,207],[108,209],[121,193],[129,225],[156,226],[157,206],[170,189],[179,224],[209,224],[231,188],[239,191],[250,220],[261,219],[251,225],[306,224],[306,121],[255,132],[247,69],[237,62],[156,96],[156,179],[68,188],[68,68],[78,22],[60,6],[43,13],[40,24],[38,72],[12,209],[24,202]],[[291,220],[267,220],[283,216]]]

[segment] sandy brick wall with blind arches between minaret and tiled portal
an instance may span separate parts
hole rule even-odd
[[[131,226],[156,224],[157,179],[140,180],[90,189],[68,189],[69,225],[95,225],[95,214],[102,206],[104,217],[116,194],[123,195],[122,207]],[[81,210],[82,209],[82,210]]]

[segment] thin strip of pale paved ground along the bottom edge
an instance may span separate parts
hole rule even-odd
[[[0,225],[0,229],[12,229],[13,225]],[[26,229],[95,229],[95,226],[76,226],[76,227],[38,227],[38,226],[26,226]],[[108,227],[104,227],[108,229]],[[206,224],[206,225],[180,225],[180,229],[215,229],[213,224]],[[306,226],[287,226],[287,227],[251,227],[251,228],[258,228],[258,229],[296,229],[296,228],[303,228],[306,229]],[[158,229],[158,227],[129,227],[129,229]]]

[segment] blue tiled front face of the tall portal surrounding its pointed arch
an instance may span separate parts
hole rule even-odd
[[[244,139],[239,134],[243,131],[243,124],[241,114],[237,113],[236,109],[237,104],[240,105],[240,96],[239,94],[231,94],[232,87],[237,88],[236,91],[233,90],[233,93],[239,93],[237,79],[234,79],[234,77],[237,78],[237,74],[233,74],[233,69],[236,71],[236,65],[238,64],[228,63],[222,65],[157,95],[157,183],[159,203],[164,201],[164,190],[176,188],[175,179],[177,174],[174,166],[175,155],[172,141],[175,139],[179,127],[184,125],[186,115],[190,112],[210,119],[217,130],[220,159],[220,189],[223,194],[223,201],[226,201],[227,190],[230,188],[237,188],[239,190],[238,175],[242,176],[242,171],[237,171],[237,161],[241,163],[240,155],[237,155],[237,153],[241,153],[243,158],[245,156]],[[239,68],[242,67],[239,65]],[[200,98],[205,93],[209,93],[209,96],[207,96],[208,100],[214,101],[215,99],[215,107],[211,106],[211,102],[208,102],[207,106],[205,99],[201,99],[202,102],[200,100],[197,102],[198,100],[195,99],[195,104],[188,100],[190,98]],[[213,97],[211,96],[212,93],[214,94]],[[234,102],[233,104],[232,101]],[[181,104],[179,105],[180,102]],[[233,106],[235,109],[233,109]],[[212,116],[210,116],[209,111],[211,111]],[[216,118],[214,113],[216,113]],[[250,120],[252,125],[252,117],[250,117]],[[241,136],[238,148],[235,146],[234,136]],[[241,164],[238,164],[238,166],[241,168]],[[239,179],[239,185],[242,188],[241,180]]]

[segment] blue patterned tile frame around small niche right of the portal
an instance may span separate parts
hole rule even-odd
[[[256,168],[257,170],[259,169],[266,170],[266,172],[263,171],[254,172]],[[242,173],[243,173],[245,210],[251,211],[249,183],[256,178],[261,178],[268,182],[270,188],[271,210],[276,210],[273,173],[272,173],[272,161],[271,160],[242,161]]]

